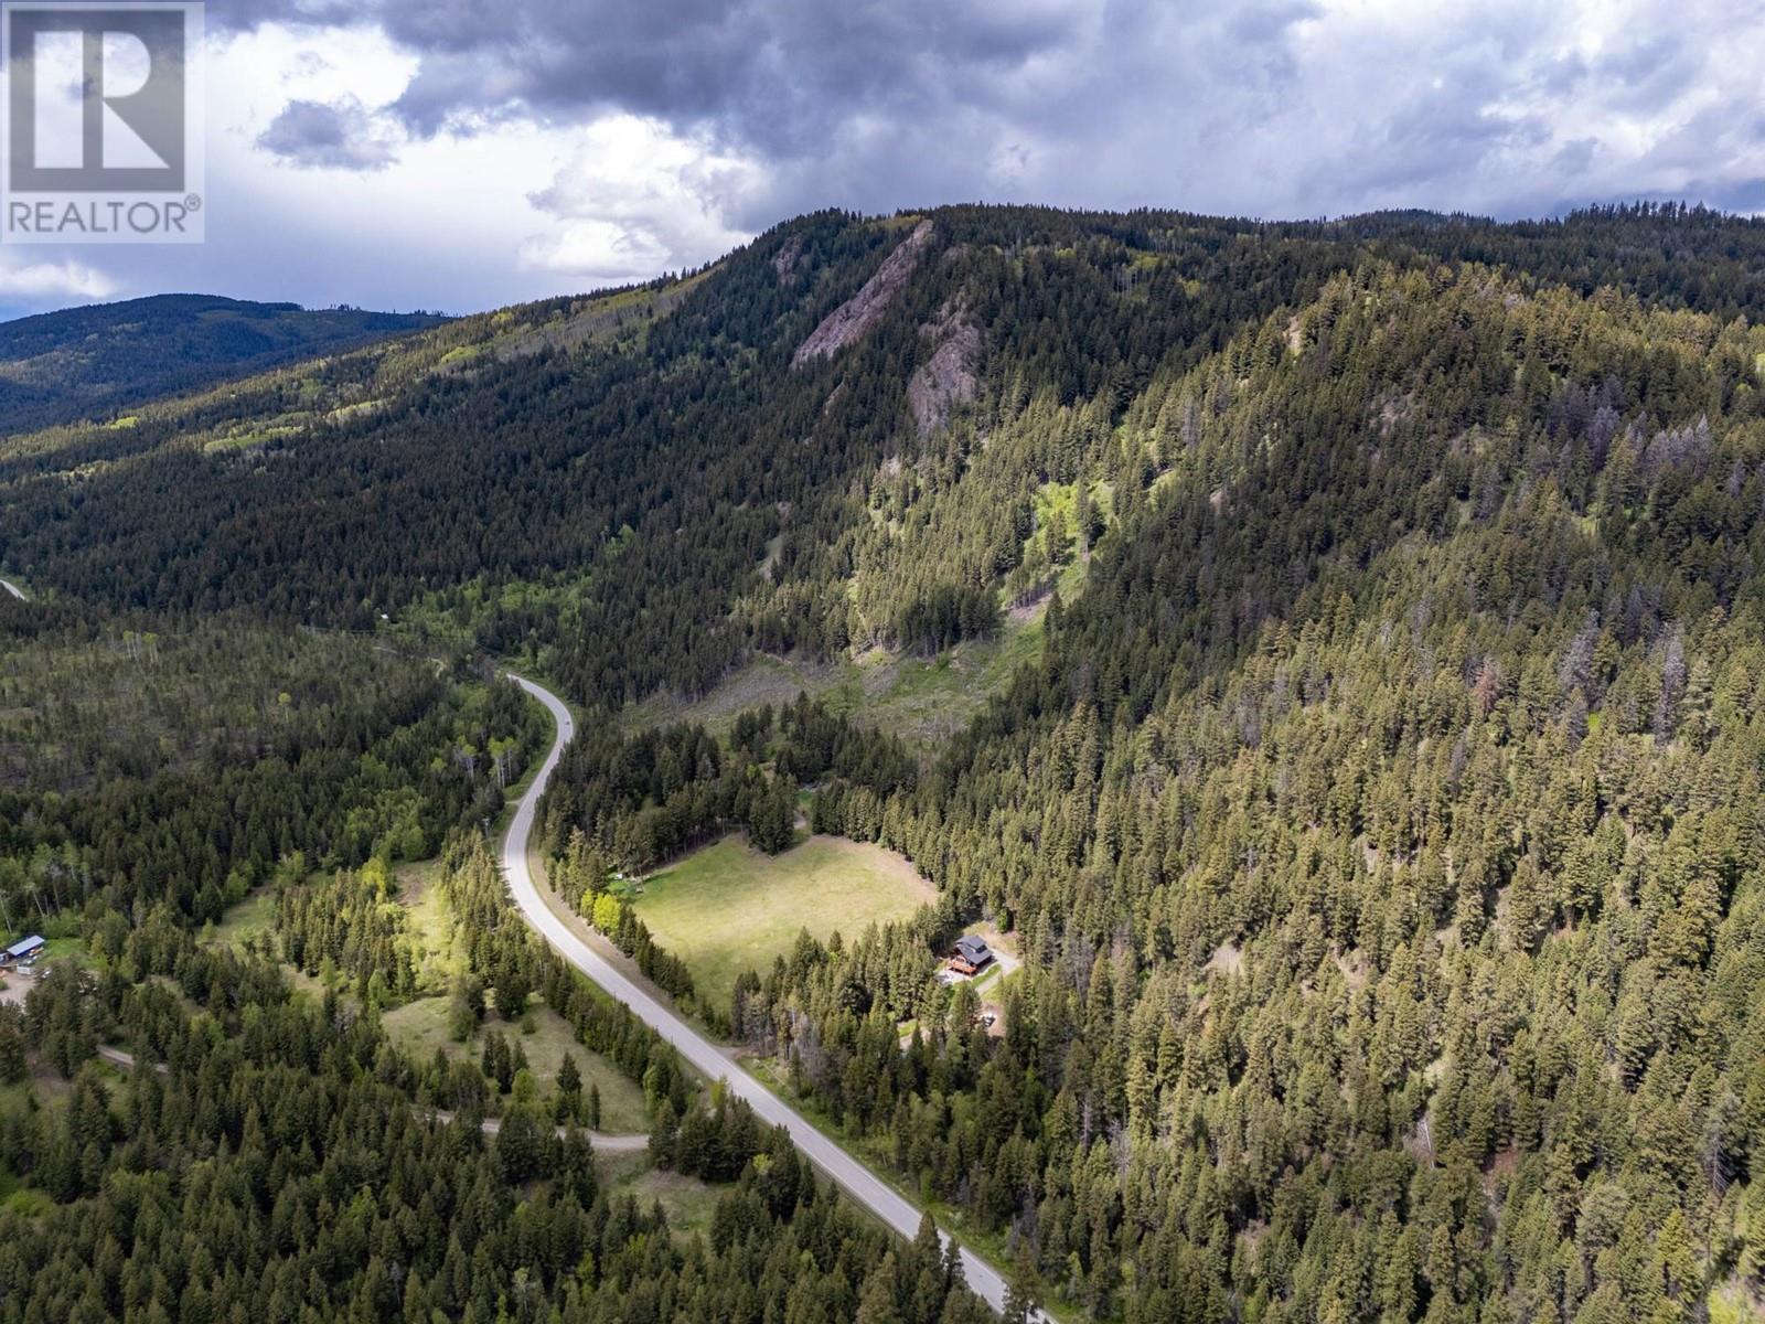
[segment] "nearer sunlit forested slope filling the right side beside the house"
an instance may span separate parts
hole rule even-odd
[[[1034,427],[1108,487],[1082,593],[916,782],[884,733],[780,718],[815,828],[944,899],[755,971],[729,1022],[1091,1317],[1756,1301],[1761,355],[1370,263],[1114,425],[997,418],[988,455]],[[653,741],[581,764],[551,831],[609,865],[711,800]],[[925,989],[951,914],[1027,955],[1003,1043]]]

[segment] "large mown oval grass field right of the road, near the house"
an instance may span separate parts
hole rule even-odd
[[[858,937],[874,920],[905,920],[935,895],[914,867],[879,846],[810,837],[761,854],[725,837],[664,869],[632,899],[655,939],[692,969],[699,996],[729,1006],[736,978],[766,971],[800,930]]]

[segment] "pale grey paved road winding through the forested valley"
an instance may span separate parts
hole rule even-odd
[[[528,923],[531,923],[545,937],[545,941],[563,955],[565,960],[632,1008],[632,1012],[644,1024],[672,1043],[680,1050],[680,1056],[692,1063],[699,1072],[711,1080],[727,1080],[729,1089],[736,1096],[747,1100],[762,1121],[771,1126],[784,1126],[791,1133],[791,1140],[796,1142],[796,1147],[801,1149],[815,1167],[833,1177],[851,1199],[858,1200],[858,1204],[867,1207],[904,1237],[913,1237],[913,1234],[920,1230],[920,1209],[914,1204],[902,1197],[900,1192],[886,1181],[877,1177],[868,1167],[845,1153],[838,1144],[815,1130],[815,1126],[803,1114],[741,1070],[741,1066],[720,1045],[713,1043],[697,1029],[688,1026],[671,1006],[665,1006],[655,994],[639,987],[625,974],[625,971],[618,969],[611,960],[595,952],[595,948],[584,943],[565,922],[565,918],[552,909],[549,895],[540,891],[538,884],[533,881],[533,870],[528,867],[528,842],[533,835],[533,817],[540,796],[545,793],[545,784],[551,782],[551,775],[558,766],[558,757],[563,754],[563,747],[568,745],[570,738],[575,734],[575,722],[570,717],[570,710],[565,708],[563,701],[556,694],[535,685],[530,680],[522,680],[521,676],[512,676],[512,680],[545,704],[552,718],[558,722],[558,740],[545,756],[545,763],[540,764],[540,771],[533,779],[533,786],[528,787],[524,796],[521,796],[521,803],[515,807],[515,817],[508,824],[508,835],[503,837],[503,869],[508,876],[508,888],[515,897],[515,904],[528,916]],[[967,1275],[969,1287],[973,1287],[974,1292],[987,1301],[987,1305],[994,1310],[1004,1310],[1004,1278],[997,1269],[964,1248],[962,1271]],[[1047,1317],[1038,1315],[1038,1319],[1045,1320]]]

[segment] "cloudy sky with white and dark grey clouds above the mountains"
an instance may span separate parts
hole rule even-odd
[[[214,0],[207,244],[0,249],[0,314],[462,312],[941,201],[1765,208],[1753,0]]]

